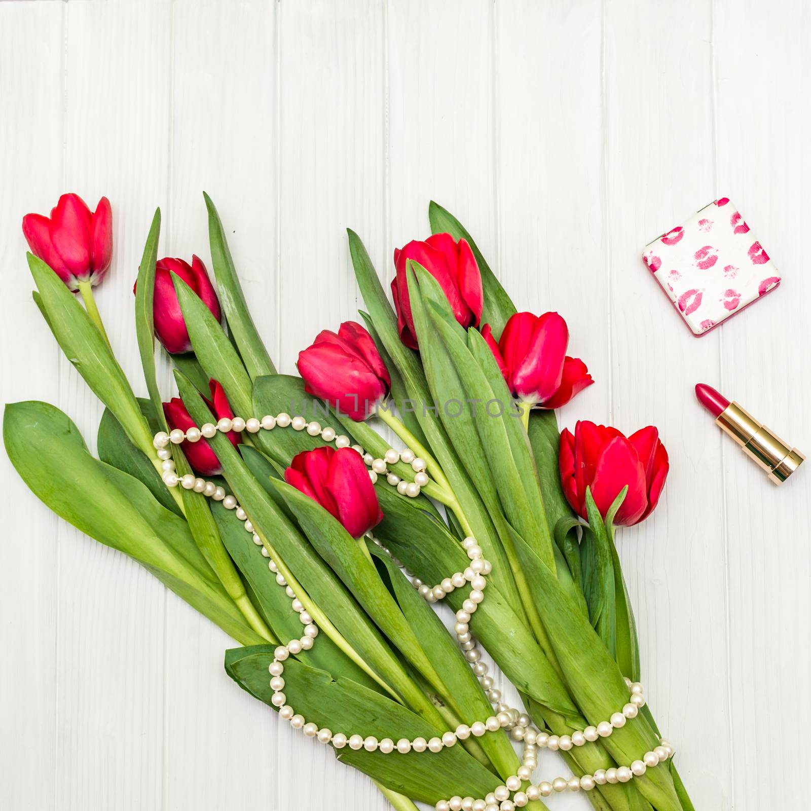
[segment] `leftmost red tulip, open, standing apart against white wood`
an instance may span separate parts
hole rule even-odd
[[[23,234],[38,256],[65,282],[79,290],[79,281],[97,285],[113,257],[113,212],[102,197],[95,212],[79,195],[62,195],[51,216],[26,214]]]

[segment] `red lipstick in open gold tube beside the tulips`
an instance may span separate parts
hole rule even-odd
[[[730,402],[723,394],[706,383],[696,386],[698,401],[712,414],[715,423],[724,433],[752,457],[775,484],[783,482],[800,467],[805,457],[796,448],[789,446],[769,428],[758,423],[751,414],[736,402]]]

